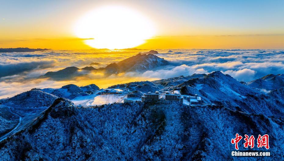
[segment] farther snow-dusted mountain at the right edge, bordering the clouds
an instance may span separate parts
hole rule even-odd
[[[267,91],[284,87],[284,74],[269,74],[260,79],[253,80],[247,83],[248,86],[265,89]]]

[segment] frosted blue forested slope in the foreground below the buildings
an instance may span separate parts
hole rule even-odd
[[[230,157],[235,133],[273,136],[277,139],[269,140],[269,151],[279,154],[284,150],[282,124],[275,117],[222,106],[188,108],[163,101],[75,108],[59,98],[33,126],[1,142],[0,159],[246,160]],[[284,157],[262,160],[271,159]]]

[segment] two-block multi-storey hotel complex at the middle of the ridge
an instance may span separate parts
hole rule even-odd
[[[177,101],[179,103],[183,103],[184,98],[181,96],[181,94],[177,93],[169,93],[166,92],[148,92],[144,93],[143,96],[141,96],[141,101],[148,101],[148,100],[170,100],[170,101]]]

